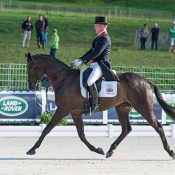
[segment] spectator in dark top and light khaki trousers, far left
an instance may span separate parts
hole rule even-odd
[[[31,31],[33,29],[31,17],[27,16],[26,20],[21,25],[22,29],[22,48],[29,48],[30,45],[30,38],[31,38]]]

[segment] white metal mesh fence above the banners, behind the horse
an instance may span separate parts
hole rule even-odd
[[[175,92],[175,69],[173,68],[114,66],[113,69],[117,73],[135,72],[155,83],[161,91]],[[28,77],[26,64],[0,63],[0,89],[27,90]]]

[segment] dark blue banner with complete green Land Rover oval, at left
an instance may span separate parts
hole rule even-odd
[[[0,120],[37,119],[41,113],[41,97],[35,93],[0,93]]]

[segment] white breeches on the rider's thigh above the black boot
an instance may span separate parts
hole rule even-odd
[[[91,86],[93,83],[95,83],[102,76],[101,68],[97,62],[91,63],[90,67],[93,70],[92,70],[92,72],[87,80],[88,86]]]

